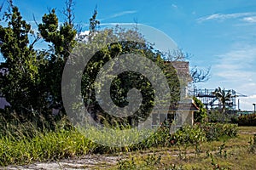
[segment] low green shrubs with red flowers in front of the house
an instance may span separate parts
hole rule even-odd
[[[183,126],[173,134],[170,134],[169,127],[164,125],[150,138],[145,139],[138,148],[171,146],[173,144],[197,144],[203,141],[219,140],[223,137],[236,137],[236,134],[237,125],[230,123],[196,123],[192,127]]]

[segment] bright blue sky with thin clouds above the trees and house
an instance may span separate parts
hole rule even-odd
[[[61,16],[64,0],[15,0],[21,14],[40,22],[48,8]],[[211,79],[200,88],[233,88],[242,110],[253,110],[256,103],[256,1],[245,0],[77,0],[75,22],[84,24],[97,5],[98,20],[109,23],[133,23],[163,31],[179,48],[191,54],[190,66],[211,66]],[[63,17],[61,17],[63,20]],[[33,23],[32,23],[33,24]]]

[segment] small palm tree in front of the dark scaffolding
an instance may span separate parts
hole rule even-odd
[[[216,96],[219,102],[219,107],[222,106],[221,111],[224,114],[226,109],[226,103],[230,101],[232,94],[230,90],[226,91],[225,89],[221,89],[220,87],[216,88],[213,94]]]

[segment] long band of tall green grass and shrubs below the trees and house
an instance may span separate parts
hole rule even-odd
[[[58,122],[55,131],[38,128],[37,123],[34,122],[19,122],[15,118],[11,122],[3,119],[1,121],[0,166],[52,161],[89,153],[143,150],[180,143],[195,144],[207,138],[205,130],[199,125],[183,127],[175,134],[169,133],[168,126],[162,126],[154,133],[147,130],[139,132],[137,129],[133,129],[132,133],[125,133],[124,129],[115,128],[113,135],[113,131],[109,128],[105,131],[99,131],[95,127],[87,128],[85,131],[73,127],[67,128],[66,120]],[[214,125],[211,124],[212,126]],[[218,129],[220,127],[221,125],[218,124]],[[233,126],[224,125],[224,132],[230,132],[228,130],[230,128]],[[140,139],[140,136],[148,138]]]

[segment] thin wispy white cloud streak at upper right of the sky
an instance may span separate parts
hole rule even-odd
[[[256,13],[233,13],[233,14],[211,14],[211,15],[207,15],[204,17],[201,17],[199,19],[197,19],[196,21],[198,22],[203,22],[203,21],[207,21],[207,20],[229,20],[229,19],[241,19],[244,21],[248,21],[248,20],[255,20],[254,16],[256,15]]]

